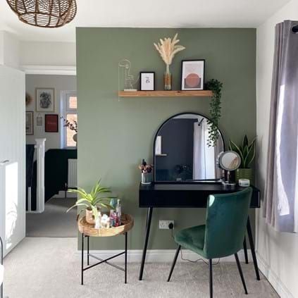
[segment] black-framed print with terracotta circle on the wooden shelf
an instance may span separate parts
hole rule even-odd
[[[181,90],[204,90],[205,60],[183,60]]]

